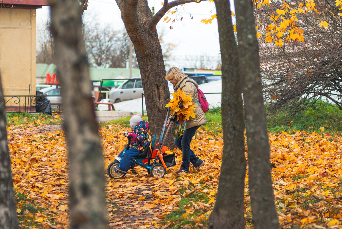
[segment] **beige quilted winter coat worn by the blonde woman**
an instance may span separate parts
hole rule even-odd
[[[181,79],[177,82],[175,86],[173,86],[174,92],[177,92],[178,89],[181,89],[183,92],[185,92],[187,95],[191,95],[193,100],[198,100],[198,93],[197,88],[198,84],[189,77],[186,77],[184,79]],[[200,126],[200,125],[206,125],[207,124],[207,118],[204,112],[201,109],[201,106],[195,103],[195,118],[190,118],[188,121],[185,122],[186,128],[189,129],[194,126]]]

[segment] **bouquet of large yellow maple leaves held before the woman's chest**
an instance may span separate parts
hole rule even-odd
[[[190,117],[195,118],[195,102],[191,95],[186,95],[181,89],[177,93],[172,93],[173,99],[165,107],[170,107],[170,114],[177,116],[178,123],[184,123]]]

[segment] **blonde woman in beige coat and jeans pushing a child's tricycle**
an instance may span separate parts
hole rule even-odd
[[[169,71],[166,73],[165,79],[169,80],[171,84],[173,84],[173,89],[175,92],[177,92],[178,89],[181,89],[187,95],[191,95],[193,100],[199,101],[196,89],[196,87],[198,87],[197,83],[193,79],[187,77],[187,75],[184,75],[181,69],[177,67],[170,68]],[[177,174],[181,172],[188,173],[190,162],[194,165],[195,168],[199,168],[204,164],[204,162],[200,158],[198,158],[190,149],[190,143],[198,127],[207,124],[207,118],[202,111],[201,106],[197,103],[195,103],[194,113],[195,118],[190,118],[188,121],[185,122],[186,130],[184,131],[183,135],[174,140],[175,145],[183,153],[183,162],[181,168],[176,171]],[[166,126],[169,125],[170,120],[168,120],[166,123]]]

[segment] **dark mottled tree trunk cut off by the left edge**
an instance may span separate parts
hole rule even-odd
[[[11,159],[7,144],[5,100],[0,76],[0,228],[18,228],[11,174]]]

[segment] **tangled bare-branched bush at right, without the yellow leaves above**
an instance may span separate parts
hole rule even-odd
[[[292,1],[293,4],[301,2]],[[269,117],[285,113],[291,116],[317,100],[342,108],[342,21],[335,16],[340,11],[333,7],[332,0],[320,0],[319,3],[316,9],[321,13],[309,11],[297,15],[297,26],[305,30],[304,42],[287,41],[280,48],[265,43],[262,38],[259,40]],[[266,27],[269,15],[275,10],[265,5],[262,11],[257,11],[256,17]],[[319,21],[326,21],[329,26],[320,27]],[[264,29],[260,30],[262,34]]]

